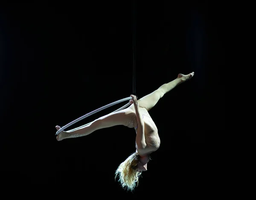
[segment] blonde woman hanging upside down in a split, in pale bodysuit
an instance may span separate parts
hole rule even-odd
[[[160,146],[157,126],[148,111],[154,107],[154,105],[157,104],[157,101],[166,93],[178,84],[189,80],[193,75],[194,72],[188,75],[178,74],[175,80],[163,84],[157,90],[139,100],[137,100],[136,96],[131,95],[131,105],[128,108],[102,116],[82,128],[61,131],[57,135],[57,140],[61,141],[67,138],[87,136],[95,130],[116,125],[124,125],[128,128],[134,128],[137,134],[136,151],[118,166],[115,173],[115,177],[119,177],[121,186],[132,191],[135,186],[138,185],[138,179],[142,171],[147,170],[150,154],[157,151]],[[60,128],[60,126],[56,126],[57,130]]]

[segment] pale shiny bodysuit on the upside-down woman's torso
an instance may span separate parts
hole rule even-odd
[[[131,108],[131,110],[133,110],[133,115],[132,115],[131,120],[128,123],[127,127],[134,128],[137,133],[138,122],[137,122],[134,104],[131,104],[131,106],[129,108]],[[157,150],[160,146],[160,138],[158,136],[157,126],[155,125],[154,121],[152,120],[151,116],[149,115],[147,109],[145,109],[144,107],[139,107],[139,110],[140,110],[141,115],[143,116],[143,119],[147,122],[146,124],[148,125],[147,129],[149,131],[145,132],[146,145],[148,146],[148,148]]]

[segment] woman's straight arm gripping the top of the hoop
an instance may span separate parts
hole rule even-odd
[[[132,97],[131,101],[134,104],[136,118],[137,118],[137,122],[138,122],[136,143],[137,143],[138,149],[144,149],[146,147],[146,142],[145,142],[145,134],[144,134],[145,129],[144,129],[143,116],[140,113],[139,104],[138,104],[136,96],[131,95],[131,97]]]

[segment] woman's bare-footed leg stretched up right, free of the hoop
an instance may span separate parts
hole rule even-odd
[[[155,104],[157,104],[158,100],[161,99],[166,93],[168,93],[170,90],[175,88],[178,84],[189,80],[190,78],[193,77],[193,75],[194,75],[194,72],[187,75],[178,74],[178,77],[175,80],[169,83],[163,84],[154,92],[139,99],[138,103],[140,107],[145,107],[147,110],[150,110],[152,107],[155,106]]]

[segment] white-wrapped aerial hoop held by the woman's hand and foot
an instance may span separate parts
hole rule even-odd
[[[58,133],[60,133],[62,130],[64,130],[64,129],[70,127],[71,125],[75,124],[76,122],[79,122],[80,120],[82,120],[82,119],[84,119],[84,118],[86,118],[86,117],[88,117],[88,116],[90,116],[90,115],[93,115],[93,114],[95,114],[95,113],[98,113],[98,112],[101,111],[101,110],[104,110],[104,109],[106,109],[106,108],[108,108],[108,107],[111,107],[111,106],[113,106],[113,105],[119,104],[119,103],[121,103],[121,102],[123,102],[123,101],[128,101],[128,100],[130,100],[130,99],[131,99],[131,97],[127,97],[127,98],[125,98],[125,99],[120,99],[120,100],[115,101],[115,102],[113,102],[113,103],[111,103],[111,104],[108,104],[108,105],[102,106],[102,107],[100,107],[100,108],[98,108],[98,109],[96,109],[96,110],[93,110],[92,112],[87,113],[86,115],[79,117],[78,119],[74,120],[73,122],[68,123],[68,124],[65,125],[64,127],[61,127],[61,128],[56,132],[55,135],[58,135]],[[119,111],[119,110],[122,110],[122,109],[124,109],[125,107],[128,107],[128,105],[130,105],[130,104],[131,104],[131,103],[129,102],[129,103],[125,104],[124,106],[120,107],[119,109],[113,111],[112,113],[117,112],[117,111]],[[90,123],[92,123],[92,122],[90,122]],[[90,123],[88,123],[88,124],[90,124]],[[88,125],[88,124],[86,124],[86,125]],[[86,125],[82,125],[81,127],[86,126]],[[78,128],[81,128],[81,127],[78,127]],[[76,129],[78,129],[78,128],[75,128],[75,129],[73,129],[73,130],[76,130]]]

